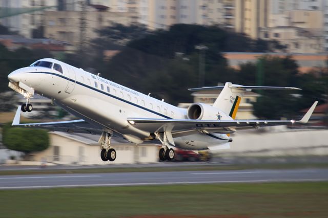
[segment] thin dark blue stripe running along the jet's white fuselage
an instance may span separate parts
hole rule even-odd
[[[68,81],[70,81],[70,82],[74,82],[74,83],[76,83],[76,84],[79,84],[79,85],[85,86],[86,88],[91,89],[91,90],[93,90],[93,91],[96,91],[96,92],[98,92],[98,93],[101,93],[101,94],[104,94],[104,95],[110,96],[110,97],[115,98],[115,99],[117,99],[117,100],[123,101],[123,102],[125,102],[125,103],[131,104],[131,105],[136,106],[136,107],[139,107],[139,108],[141,108],[141,109],[143,109],[143,110],[145,110],[145,111],[148,111],[148,112],[150,112],[150,113],[156,114],[156,115],[158,115],[158,116],[161,116],[161,117],[164,117],[164,118],[167,118],[167,119],[172,119],[171,117],[168,117],[168,116],[166,116],[166,115],[163,115],[163,114],[157,113],[157,112],[155,112],[155,111],[152,111],[152,110],[148,109],[147,107],[143,107],[143,106],[140,106],[140,105],[138,105],[138,104],[132,103],[132,102],[130,102],[130,101],[127,101],[127,100],[125,100],[125,99],[119,98],[119,97],[114,96],[114,95],[111,95],[111,94],[106,93],[106,92],[104,92],[104,91],[98,90],[98,89],[96,89],[96,88],[93,88],[92,86],[89,86],[89,85],[86,85],[86,84],[84,84],[84,83],[78,82],[78,81],[76,81],[76,80],[74,80],[74,79],[70,79],[70,78],[68,78],[68,77],[66,77],[66,76],[63,76],[63,75],[59,75],[59,74],[55,74],[55,73],[50,73],[50,72],[28,72],[28,73],[29,73],[29,74],[33,74],[33,73],[37,73],[37,74],[50,74],[50,75],[58,76],[58,77],[61,77],[61,78],[63,78],[63,79],[66,79],[66,80],[68,80]]]

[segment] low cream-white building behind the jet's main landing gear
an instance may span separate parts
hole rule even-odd
[[[98,135],[69,134],[49,132],[50,147],[44,151],[33,152],[30,161],[47,161],[55,164],[133,164],[158,162],[159,144],[132,144],[120,137],[113,137],[111,147],[116,150],[117,157],[113,162],[100,159]]]

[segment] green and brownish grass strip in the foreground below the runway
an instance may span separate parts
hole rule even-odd
[[[326,217],[328,182],[0,191],[0,217]]]

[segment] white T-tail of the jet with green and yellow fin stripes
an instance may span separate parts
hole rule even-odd
[[[233,119],[236,118],[238,107],[245,92],[252,90],[300,90],[294,87],[277,87],[277,86],[245,86],[232,84],[226,82],[224,86],[211,86],[189,89],[190,91],[200,90],[222,90],[217,99],[215,100],[213,107],[218,108],[225,114],[229,115]]]

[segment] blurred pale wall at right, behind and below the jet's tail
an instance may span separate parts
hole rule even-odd
[[[328,130],[289,130],[269,127],[273,132],[243,130],[232,134],[229,150],[221,156],[299,156],[328,155]],[[277,130],[278,129],[278,130]]]

